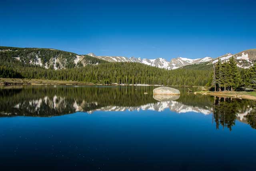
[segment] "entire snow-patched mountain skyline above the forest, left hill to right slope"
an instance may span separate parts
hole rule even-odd
[[[8,53],[6,53],[8,52]],[[174,70],[182,68],[184,66],[200,63],[216,63],[218,59],[222,62],[234,57],[237,61],[237,66],[240,68],[249,68],[256,60],[256,49],[245,50],[237,54],[227,53],[217,58],[205,57],[198,59],[189,58],[173,58],[167,61],[164,58],[147,59],[147,58],[127,58],[123,56],[96,56],[93,53],[87,55],[78,55],[72,52],[65,52],[56,49],[45,48],[13,48],[13,47],[0,47],[0,56],[4,56],[8,59],[11,57],[14,60],[18,60],[24,64],[38,65],[43,68],[52,68],[54,70],[64,68],[74,68],[86,66],[89,64],[98,65],[105,62],[136,62],[146,64],[148,66],[164,68],[167,70]]]

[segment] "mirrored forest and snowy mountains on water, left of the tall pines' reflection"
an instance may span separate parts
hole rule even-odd
[[[184,113],[195,111],[209,114],[205,105],[210,99],[178,97],[177,101],[157,101],[152,98],[154,87],[25,87],[0,89],[0,113],[2,116],[55,116],[84,111],[155,110]],[[148,94],[144,94],[148,92]],[[182,103],[182,99],[186,99]],[[191,99],[196,101],[193,105]],[[204,105],[202,105],[204,104]],[[200,106],[200,107],[199,107]]]

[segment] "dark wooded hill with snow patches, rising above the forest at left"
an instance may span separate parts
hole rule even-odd
[[[0,64],[8,67],[40,66],[56,70],[100,63],[106,63],[106,61],[55,49],[0,46]]]

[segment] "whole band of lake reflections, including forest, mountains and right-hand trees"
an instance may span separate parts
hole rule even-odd
[[[180,96],[153,95],[151,86],[46,86],[0,89],[0,116],[50,117],[76,111],[164,111],[213,113],[216,128],[232,130],[236,120],[256,128],[254,101],[186,93]],[[147,92],[148,94],[144,94]]]

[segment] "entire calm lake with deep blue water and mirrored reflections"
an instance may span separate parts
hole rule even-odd
[[[174,88],[1,87],[0,168],[256,170],[255,101]]]

